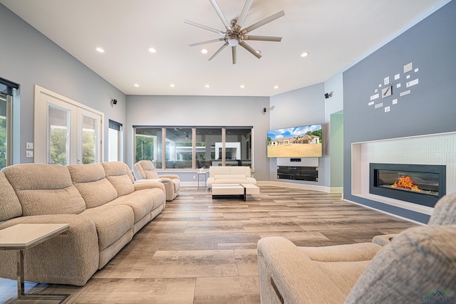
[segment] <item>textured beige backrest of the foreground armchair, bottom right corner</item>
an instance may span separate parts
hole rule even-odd
[[[378,251],[346,303],[419,302],[432,290],[455,295],[455,239],[456,225],[406,229]]]

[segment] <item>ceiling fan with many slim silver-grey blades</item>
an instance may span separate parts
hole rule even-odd
[[[217,1],[215,0],[209,0],[209,2],[212,4],[214,7],[214,10],[216,11],[217,15],[219,16],[220,20],[222,20],[222,23],[226,29],[226,31],[219,31],[216,28],[211,28],[209,26],[203,26],[202,24],[195,23],[192,21],[185,20],[184,22],[187,24],[190,24],[192,26],[197,26],[199,28],[203,28],[207,31],[212,31],[214,33],[218,33],[221,35],[221,38],[217,39],[212,39],[209,41],[202,41],[198,43],[192,43],[190,46],[201,46],[203,44],[207,43],[214,43],[214,42],[219,42],[219,41],[224,41],[223,46],[221,46],[215,53],[214,55],[209,58],[209,61],[214,59],[215,56],[217,56],[224,48],[227,46],[231,46],[232,48],[232,60],[233,64],[237,62],[237,46],[242,46],[245,48],[247,51],[252,53],[255,57],[261,58],[261,53],[259,53],[257,50],[252,48],[252,46],[249,46],[246,41],[252,40],[252,41],[274,41],[274,42],[280,42],[281,37],[276,37],[276,36],[252,36],[252,35],[247,35],[247,33],[250,33],[251,31],[254,31],[255,29],[259,28],[260,26],[264,26],[265,24],[274,21],[276,19],[279,19],[282,16],[285,16],[284,11],[279,11],[276,14],[273,14],[265,19],[262,19],[251,26],[247,26],[247,28],[242,28],[242,25],[244,23],[244,20],[247,16],[247,13],[249,12],[250,6],[252,6],[253,0],[246,0],[244,3],[244,6],[242,7],[241,12],[239,13],[239,17],[237,19],[232,19],[232,21],[228,22],[228,20],[225,18],[222,10],[220,9],[219,5],[217,4]]]

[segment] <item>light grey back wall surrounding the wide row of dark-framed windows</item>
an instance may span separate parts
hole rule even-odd
[[[267,97],[127,96],[125,162],[133,164],[133,125],[253,126],[254,177],[269,180],[266,132],[269,127]]]

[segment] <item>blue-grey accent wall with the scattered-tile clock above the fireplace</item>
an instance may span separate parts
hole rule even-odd
[[[413,211],[351,194],[351,143],[456,131],[455,16],[456,1],[451,1],[343,73],[346,199],[417,221],[427,220]],[[392,104],[393,98],[380,98],[383,107],[368,105],[384,78],[389,76],[393,81],[398,73],[403,77],[403,66],[408,63],[413,63],[410,80],[419,78],[419,84],[410,87],[410,94],[398,97],[399,91],[406,90],[401,79],[403,87],[393,88],[397,104]],[[390,112],[385,112],[388,105]],[[435,150],[438,153],[439,147]]]

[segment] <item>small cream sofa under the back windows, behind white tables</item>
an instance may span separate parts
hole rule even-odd
[[[212,189],[212,184],[257,184],[257,179],[248,166],[211,166],[207,188]]]

